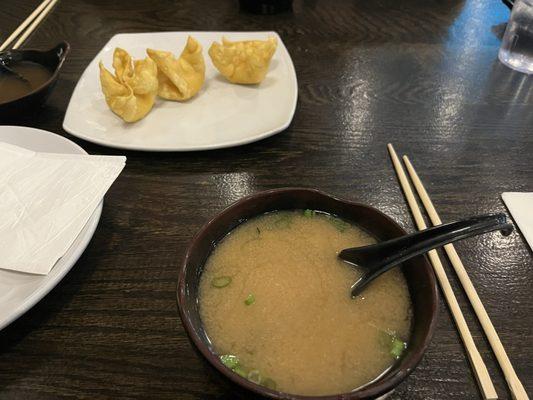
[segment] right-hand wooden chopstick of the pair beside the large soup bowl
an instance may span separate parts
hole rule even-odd
[[[409,161],[409,158],[407,156],[403,156],[403,161],[405,162],[405,165],[407,166],[407,171],[409,172],[409,176],[411,177],[411,181],[415,185],[416,191],[418,192],[418,196],[422,200],[422,203],[424,204],[424,207],[426,208],[426,211],[429,215],[429,218],[433,225],[441,225],[442,221],[437,214],[437,210],[433,206],[433,202],[429,198],[429,195],[424,188],[424,185],[422,184],[422,181],[418,177],[418,174],[415,171],[415,168]],[[496,359],[498,360],[498,363],[500,364],[500,367],[503,371],[503,374],[505,376],[505,380],[507,381],[507,384],[509,386],[509,389],[511,390],[511,395],[513,396],[513,399],[516,400],[527,400],[529,399],[524,386],[522,386],[522,383],[518,379],[518,376],[516,375],[516,372],[511,364],[511,361],[509,360],[509,357],[507,357],[507,353],[505,352],[505,349],[503,348],[502,342],[500,341],[500,338],[498,337],[498,334],[496,333],[496,329],[494,329],[494,326],[492,325],[492,322],[487,314],[487,311],[485,311],[485,307],[483,306],[483,303],[481,302],[476,289],[474,288],[474,285],[472,284],[472,281],[470,280],[470,277],[468,276],[468,273],[465,270],[465,267],[459,258],[459,255],[457,254],[457,251],[455,251],[455,247],[453,244],[447,244],[444,246],[444,250],[446,251],[446,254],[448,255],[448,258],[450,259],[450,262],[455,269],[455,272],[457,276],[459,277],[459,280],[461,281],[461,284],[463,285],[463,289],[466,292],[466,295],[468,296],[468,299],[470,300],[470,303],[472,304],[472,307],[474,308],[474,312],[476,313],[479,322],[481,323],[481,326],[483,327],[483,330],[485,331],[485,335],[487,336],[487,339],[489,340],[489,343],[492,347],[492,350],[494,351],[494,354],[496,355]]]

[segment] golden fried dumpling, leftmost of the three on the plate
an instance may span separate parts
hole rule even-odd
[[[100,83],[111,111],[126,122],[135,122],[152,109],[157,96],[157,65],[146,58],[132,62],[120,48],[113,53],[115,75],[100,62]]]

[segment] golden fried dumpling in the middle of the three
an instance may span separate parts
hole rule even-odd
[[[157,64],[158,95],[167,100],[183,101],[198,93],[205,80],[202,46],[189,36],[179,58],[169,51],[146,49]]]

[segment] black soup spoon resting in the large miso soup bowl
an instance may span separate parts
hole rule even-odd
[[[412,257],[457,240],[495,230],[501,230],[504,236],[512,232],[513,226],[507,222],[505,214],[477,216],[438,225],[386,242],[345,249],[339,253],[339,257],[350,264],[364,268],[363,275],[352,286],[352,297],[355,297],[370,281]]]

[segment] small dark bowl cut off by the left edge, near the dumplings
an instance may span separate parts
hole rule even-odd
[[[44,104],[57,82],[59,71],[69,51],[70,45],[67,42],[61,42],[47,51],[6,50],[1,52],[0,59],[5,60],[7,65],[11,62],[31,61],[43,65],[52,75],[41,86],[28,94],[18,99],[0,103],[0,115],[11,116],[19,113],[27,113],[31,109]]]

